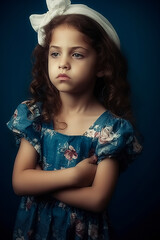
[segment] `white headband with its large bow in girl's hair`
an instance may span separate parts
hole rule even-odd
[[[44,26],[54,17],[68,14],[82,14],[98,22],[109,37],[120,48],[119,37],[111,23],[100,13],[83,4],[71,4],[70,0],[46,0],[48,12],[33,14],[29,17],[33,29],[38,32],[38,43],[43,46],[45,40]]]

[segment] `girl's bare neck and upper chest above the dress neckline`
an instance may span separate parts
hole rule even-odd
[[[71,96],[60,93],[61,112],[53,119],[54,130],[66,135],[83,135],[106,110],[92,95]]]

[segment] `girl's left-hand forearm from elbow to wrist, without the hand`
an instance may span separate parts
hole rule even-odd
[[[75,168],[56,171],[26,169],[13,174],[13,188],[18,195],[37,195],[76,184]]]

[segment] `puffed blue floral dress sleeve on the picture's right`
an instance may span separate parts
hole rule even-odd
[[[117,119],[113,125],[105,126],[98,134],[96,155],[98,163],[105,158],[114,158],[120,163],[120,171],[142,151],[132,125],[124,119]]]

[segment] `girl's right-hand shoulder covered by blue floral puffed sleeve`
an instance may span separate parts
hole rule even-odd
[[[100,116],[92,135],[98,142],[96,155],[99,162],[106,157],[118,159],[121,170],[142,152],[142,145],[133,125],[110,111]]]

